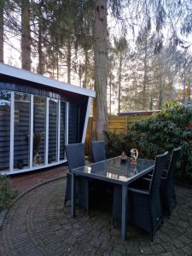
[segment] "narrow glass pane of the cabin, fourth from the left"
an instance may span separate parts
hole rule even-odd
[[[57,159],[57,101],[49,100],[49,154],[48,163]]]

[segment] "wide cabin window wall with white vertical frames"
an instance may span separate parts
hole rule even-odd
[[[66,111],[66,102],[0,90],[0,172],[65,160]]]

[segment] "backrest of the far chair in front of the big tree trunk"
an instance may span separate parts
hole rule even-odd
[[[91,142],[91,154],[92,160],[96,163],[102,160],[106,160],[105,144],[102,141]]]

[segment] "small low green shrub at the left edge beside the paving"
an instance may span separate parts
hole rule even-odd
[[[9,206],[16,192],[10,189],[9,177],[0,175],[0,212]]]

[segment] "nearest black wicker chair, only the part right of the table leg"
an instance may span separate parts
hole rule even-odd
[[[156,156],[153,177],[148,189],[129,188],[130,219],[134,224],[150,233],[154,241],[154,233],[163,223],[160,202],[160,182],[164,171],[168,152]]]

